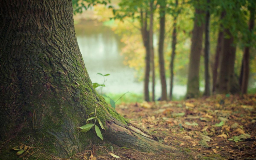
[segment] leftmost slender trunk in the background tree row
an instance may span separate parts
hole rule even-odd
[[[149,31],[147,30],[147,12],[145,12],[145,18],[143,17],[143,12],[141,11],[141,35],[143,39],[143,44],[146,50],[145,56],[145,76],[144,76],[144,100],[150,101],[149,96],[149,79],[150,79],[150,41],[149,41]]]

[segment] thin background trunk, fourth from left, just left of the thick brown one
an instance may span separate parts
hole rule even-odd
[[[176,8],[178,6],[178,0],[175,0]],[[175,58],[175,49],[176,49],[176,43],[177,43],[177,33],[176,33],[176,25],[177,25],[177,16],[176,14],[174,16],[174,22],[173,22],[173,32],[172,32],[172,54],[171,54],[171,63],[170,63],[170,71],[171,71],[171,77],[170,77],[170,100],[172,100],[172,90],[173,90],[173,68],[174,68],[174,58]]]

